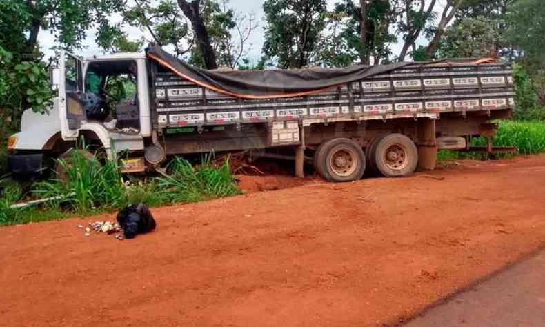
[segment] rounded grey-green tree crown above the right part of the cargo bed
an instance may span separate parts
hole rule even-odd
[[[438,58],[487,57],[502,38],[496,21],[484,17],[466,18],[446,28],[437,46]]]

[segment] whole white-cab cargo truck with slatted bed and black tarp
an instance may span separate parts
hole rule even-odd
[[[293,159],[299,176],[308,163],[329,181],[366,170],[406,177],[433,169],[437,150],[479,150],[471,139],[490,139],[490,121],[515,108],[512,75],[492,59],[209,71],[153,44],[88,59],[61,51],[54,106],[23,113],[8,142],[10,167],[38,172],[84,138],[110,158],[122,152],[124,172],[161,169],[175,155],[246,150]]]

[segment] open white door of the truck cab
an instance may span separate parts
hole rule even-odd
[[[64,140],[77,139],[83,110],[83,60],[64,50],[59,53],[59,117]]]

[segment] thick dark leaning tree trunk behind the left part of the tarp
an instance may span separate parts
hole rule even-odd
[[[188,3],[184,0],[178,0],[178,6],[191,22],[193,32],[195,32],[195,39],[197,39],[199,50],[201,50],[204,58],[204,65],[208,69],[217,69],[216,54],[210,43],[210,36],[208,35],[208,30],[206,30],[204,20],[199,12],[200,2],[200,0],[193,0],[191,3]]]

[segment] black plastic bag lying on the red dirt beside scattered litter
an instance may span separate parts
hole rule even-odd
[[[138,234],[146,234],[155,229],[157,224],[145,204],[132,204],[117,214],[117,222],[123,228],[127,239],[133,239]]]

